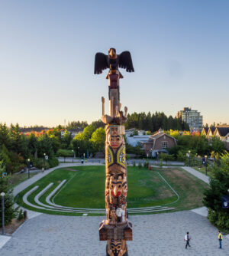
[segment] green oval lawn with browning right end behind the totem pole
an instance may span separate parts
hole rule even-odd
[[[149,171],[128,166],[127,172],[128,208],[171,205],[177,211],[202,206],[202,194],[207,185],[182,169],[153,169]],[[176,190],[179,194],[179,200],[160,175]],[[57,205],[79,208],[105,208],[105,166],[77,166],[56,169],[25,189],[24,192],[21,192],[16,200],[19,205],[30,208],[22,202],[22,196],[25,192],[35,185],[39,185],[39,189],[28,197],[28,200],[36,205],[34,195],[37,195],[50,182],[54,182],[54,186],[56,186],[63,179],[67,179],[66,185],[53,198],[53,202]],[[45,203],[45,198],[52,190],[53,188],[47,191],[40,198],[40,202]],[[40,210],[40,212],[43,212],[43,210]],[[55,214],[56,212],[50,213]],[[75,213],[60,212],[56,214],[77,215]]]

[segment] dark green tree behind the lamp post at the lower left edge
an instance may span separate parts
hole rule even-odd
[[[17,211],[14,208],[12,190],[8,186],[8,176],[3,176],[3,172],[5,172],[5,165],[0,161],[0,193],[5,192],[5,225],[8,225],[15,218]],[[2,207],[0,208],[0,215],[2,216]],[[2,227],[2,218],[0,218],[0,226]]]

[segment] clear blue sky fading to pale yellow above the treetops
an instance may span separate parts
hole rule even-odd
[[[227,0],[0,2],[0,123],[91,123],[108,113],[108,71],[95,53],[130,51],[121,69],[128,113],[176,116],[183,107],[204,123],[229,123]]]

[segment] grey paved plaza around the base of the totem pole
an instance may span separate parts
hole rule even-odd
[[[0,255],[4,256],[105,256],[105,242],[98,241],[103,217],[72,217],[41,214],[12,236]],[[130,256],[221,256],[229,255],[229,240],[218,249],[218,231],[202,215],[192,211],[130,216],[134,241],[128,241]],[[189,231],[191,248],[185,250]]]

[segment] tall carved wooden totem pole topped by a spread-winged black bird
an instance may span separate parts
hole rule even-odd
[[[105,99],[102,97],[102,122],[105,133],[105,208],[106,219],[99,225],[100,241],[107,241],[106,255],[127,256],[126,241],[132,240],[132,224],[127,220],[127,163],[124,143],[124,125],[127,107],[121,111],[119,79],[123,78],[118,67],[134,72],[129,51],[116,54],[114,48],[108,55],[95,54],[95,74],[109,68],[110,114],[105,115]]]

